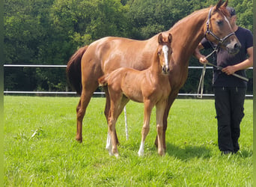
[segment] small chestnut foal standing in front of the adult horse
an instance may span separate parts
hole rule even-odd
[[[169,61],[171,58],[171,34],[158,36],[158,46],[151,60],[151,66],[138,71],[121,67],[98,80],[100,85],[108,85],[111,100],[109,111],[109,132],[106,149],[110,155],[119,156],[115,140],[115,123],[129,99],[144,102],[144,124],[141,132],[141,146],[138,156],[144,154],[144,141],[150,129],[150,114],[156,105],[156,130],[158,153],[165,154],[162,143],[162,119],[171,86],[168,81]]]

